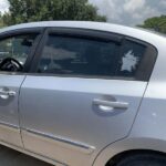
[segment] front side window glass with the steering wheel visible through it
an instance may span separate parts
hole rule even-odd
[[[23,70],[37,35],[24,34],[0,40],[0,71]]]

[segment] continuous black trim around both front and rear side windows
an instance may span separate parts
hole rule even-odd
[[[89,75],[68,75],[68,74],[49,74],[49,73],[37,73],[37,64],[41,58],[42,49],[46,42],[49,33],[54,32],[58,35],[71,35],[71,37],[80,37],[80,38],[93,38],[105,41],[115,41],[117,43],[123,43],[125,40],[134,41],[138,44],[143,44],[146,46],[146,53],[144,60],[142,60],[142,65],[136,74],[136,77],[125,77],[125,76],[89,76]],[[91,29],[77,29],[77,28],[45,28],[45,27],[37,27],[37,28],[23,28],[17,30],[9,30],[0,33],[0,40],[6,39],[12,35],[20,35],[25,33],[39,33],[38,39],[35,40],[34,46],[29,55],[29,59],[25,62],[24,70],[22,72],[4,72],[0,71],[0,74],[8,75],[35,75],[35,76],[60,76],[60,77],[82,77],[82,79],[105,79],[105,80],[127,80],[127,81],[149,81],[152,75],[158,51],[157,49],[136,38],[127,37],[124,34],[118,34],[114,32],[105,32],[101,30],[91,30]],[[112,39],[110,39],[112,37]],[[121,51],[123,48],[121,46]],[[146,72],[145,72],[146,68]]]

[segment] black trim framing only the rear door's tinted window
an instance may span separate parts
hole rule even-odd
[[[92,76],[92,75],[71,75],[71,74],[52,74],[52,73],[37,73],[38,63],[42,55],[42,50],[48,41],[48,37],[50,33],[55,33],[56,35],[68,35],[68,37],[77,37],[77,38],[87,38],[87,39],[98,39],[98,40],[106,40],[106,41],[115,41],[117,43],[122,43],[121,51],[123,50],[123,42],[125,40],[129,40],[136,42],[138,44],[146,46],[145,55],[142,60],[144,65],[139,66],[135,77],[125,77],[125,76]],[[110,39],[111,38],[111,39]],[[35,76],[59,76],[59,77],[81,77],[81,79],[104,79],[104,80],[124,80],[124,81],[143,81],[148,82],[152,75],[156,59],[158,55],[157,49],[136,38],[127,37],[124,34],[117,34],[114,32],[105,32],[98,30],[90,30],[90,29],[77,29],[77,28],[45,28],[42,41],[40,42],[39,46],[37,48],[33,63],[30,69],[30,75]],[[148,61],[147,61],[148,60]],[[144,69],[146,68],[146,72]]]

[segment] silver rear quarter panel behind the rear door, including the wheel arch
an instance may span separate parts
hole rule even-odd
[[[107,145],[94,166],[104,166],[113,156],[133,149],[166,153],[166,39],[158,38],[158,56],[139,111],[128,136]]]

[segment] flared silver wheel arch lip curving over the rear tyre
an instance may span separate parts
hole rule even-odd
[[[107,166],[111,160],[136,153],[155,153],[166,156],[166,141],[157,138],[125,138],[106,146],[95,158],[93,166]]]

